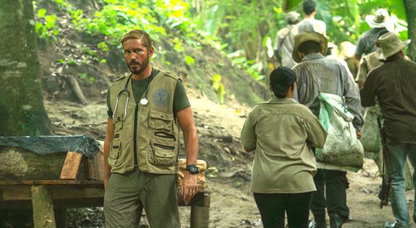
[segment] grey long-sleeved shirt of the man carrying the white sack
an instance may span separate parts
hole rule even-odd
[[[360,96],[347,69],[338,60],[325,58],[320,53],[306,55],[302,62],[293,67],[297,76],[297,91],[293,98],[319,116],[320,92],[336,94],[345,98],[345,103],[354,115],[356,128],[363,125]]]

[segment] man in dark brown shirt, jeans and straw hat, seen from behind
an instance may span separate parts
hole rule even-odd
[[[406,157],[416,166],[416,63],[404,60],[403,49],[410,40],[401,41],[394,33],[379,37],[377,58],[383,61],[367,76],[361,89],[361,104],[379,101],[383,115],[390,161],[392,211],[396,222],[385,227],[410,227],[404,184]],[[416,184],[413,174],[413,184]],[[413,214],[416,222],[416,214]]]

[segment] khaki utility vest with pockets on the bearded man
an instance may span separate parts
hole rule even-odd
[[[180,129],[173,114],[173,95],[176,76],[160,71],[147,89],[148,104],[135,101],[129,76],[119,78],[110,85],[110,107],[115,116],[124,121],[114,121],[114,137],[107,163],[112,173],[126,173],[138,167],[143,172],[174,174],[178,170]],[[126,87],[127,83],[127,87]],[[125,88],[126,87],[126,88]],[[130,93],[117,95],[126,89]],[[141,98],[144,98],[146,91]]]

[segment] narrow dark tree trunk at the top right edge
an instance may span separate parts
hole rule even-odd
[[[412,40],[408,46],[407,55],[411,60],[415,61],[416,57],[416,1],[403,0],[404,10],[406,10],[406,17],[408,21],[408,36]]]

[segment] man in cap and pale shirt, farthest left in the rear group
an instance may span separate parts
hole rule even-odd
[[[281,28],[277,32],[275,42],[275,56],[279,58],[282,67],[292,68],[296,62],[292,59],[293,37],[297,35],[297,22],[299,22],[300,14],[297,12],[288,12],[286,21],[288,26]]]

